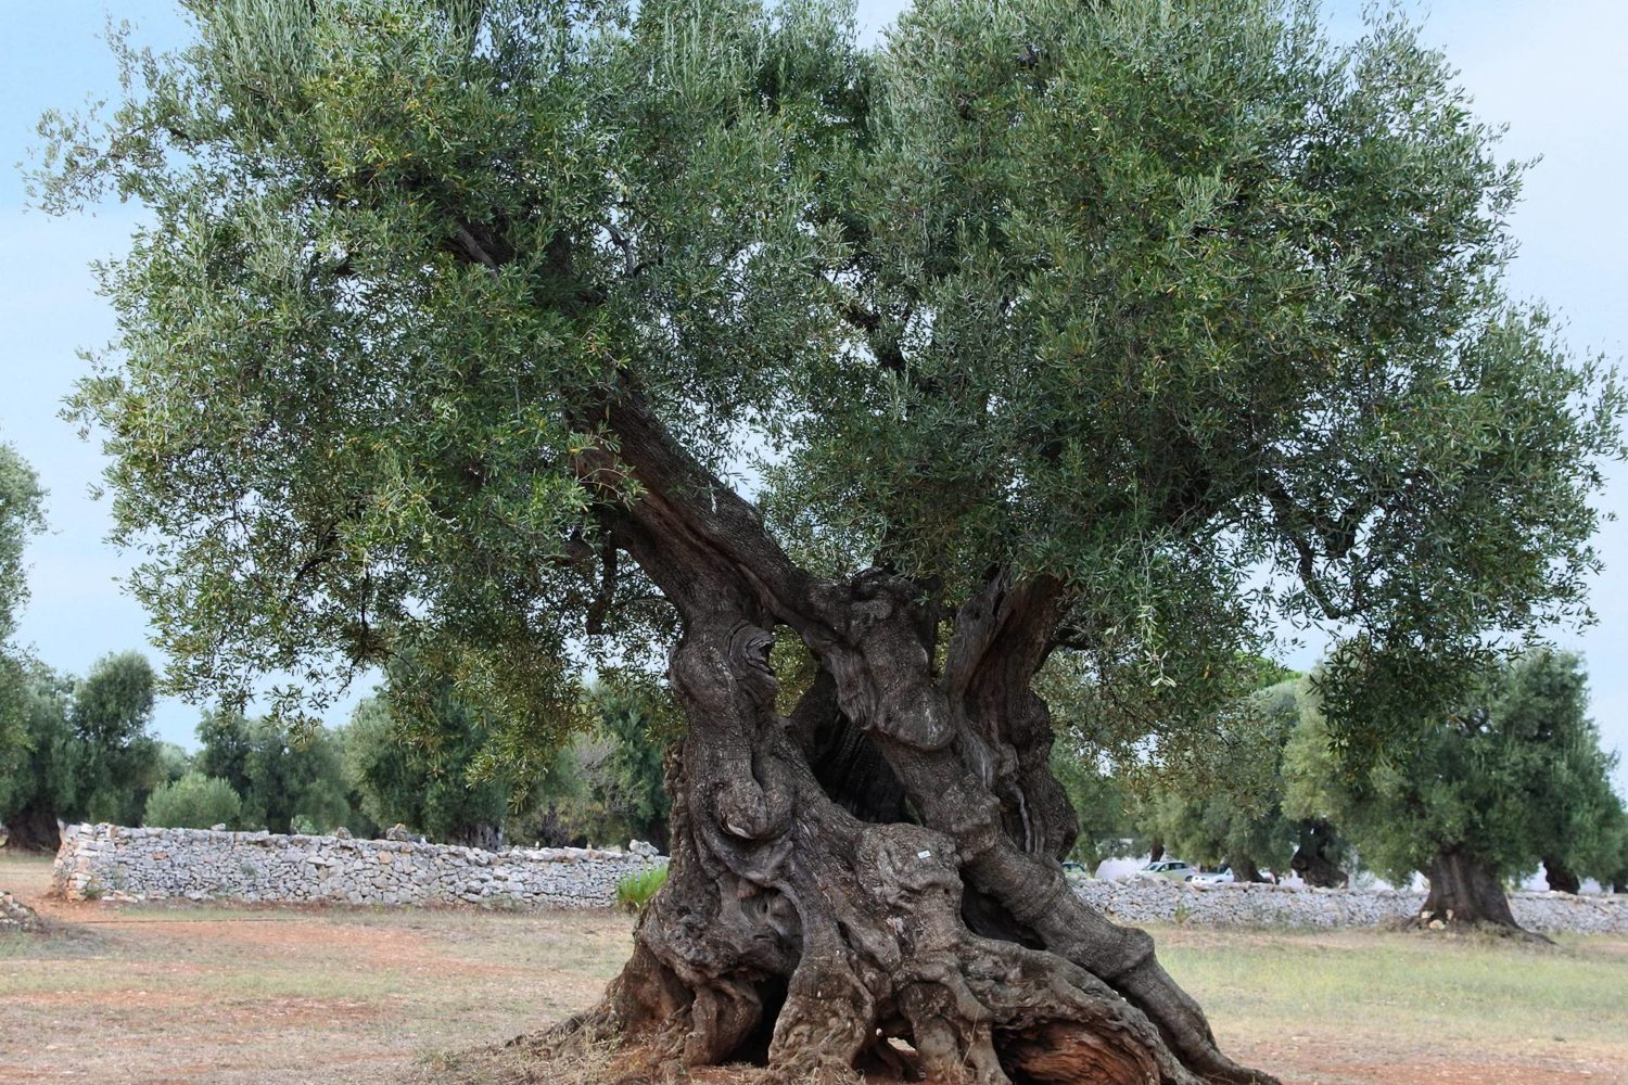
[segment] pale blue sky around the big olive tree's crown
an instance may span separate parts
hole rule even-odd
[[[904,5],[861,0],[861,23],[876,33]],[[11,163],[24,159],[46,107],[75,106],[116,89],[114,63],[101,41],[107,13],[137,24],[137,42],[155,47],[184,39],[179,8],[168,0],[55,0],[8,5],[0,46],[0,439],[39,470],[50,490],[52,534],[29,550],[33,602],[21,639],[54,667],[83,673],[101,654],[147,644],[147,618],[120,594],[117,577],[132,558],[103,543],[107,511],[88,498],[101,472],[96,446],[80,441],[57,416],[59,403],[85,373],[78,348],[104,343],[112,322],[94,296],[86,265],[120,251],[135,221],[111,205],[93,218],[49,220],[24,210]],[[21,10],[16,10],[21,8]],[[1327,7],[1335,29],[1358,24],[1359,0]],[[1628,177],[1628,7],[1608,0],[1439,0],[1418,7],[1426,39],[1446,49],[1464,73],[1478,112],[1511,125],[1511,158],[1542,155],[1516,216],[1522,241],[1514,290],[1547,299],[1569,319],[1579,351],[1628,356],[1628,223],[1620,187]],[[1615,465],[1605,508],[1628,509],[1628,470]],[[1607,745],[1628,755],[1628,525],[1607,524],[1607,561],[1594,589],[1600,623],[1558,639],[1584,652],[1594,716]],[[1301,665],[1314,649],[1304,649]],[[334,712],[339,722],[342,712]],[[192,745],[197,709],[166,701],[158,711],[164,739]],[[1618,768],[1618,784],[1628,769]]]

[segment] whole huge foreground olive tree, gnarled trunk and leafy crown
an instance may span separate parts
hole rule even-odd
[[[148,208],[77,405],[179,685],[435,652],[524,769],[669,649],[671,877],[581,1028],[1270,1080],[1068,891],[1032,678],[1179,735],[1271,610],[1400,688],[1582,607],[1617,399],[1504,299],[1441,57],[1271,0],[187,7],[37,176]]]

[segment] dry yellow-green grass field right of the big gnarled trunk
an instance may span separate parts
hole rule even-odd
[[[1223,1046],[1298,1082],[1628,1082],[1628,939],[1153,935]]]

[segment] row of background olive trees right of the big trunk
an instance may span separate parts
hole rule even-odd
[[[1586,878],[1628,891],[1628,812],[1615,755],[1587,717],[1581,660],[1534,649],[1421,709],[1416,739],[1385,758],[1327,727],[1319,675],[1278,673],[1221,712],[1201,758],[1149,765],[1136,752],[1060,743],[1053,768],[1081,818],[1074,857],[1166,851],[1237,880],[1298,874],[1346,885],[1353,864],[1429,880],[1424,922],[1514,927],[1506,887],[1543,870],[1551,890]]]

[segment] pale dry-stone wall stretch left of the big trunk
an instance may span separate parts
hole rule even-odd
[[[650,852],[73,825],[52,885],[67,900],[607,908],[619,882],[666,865]]]

